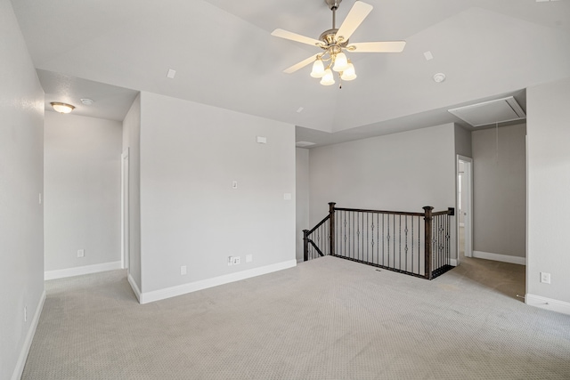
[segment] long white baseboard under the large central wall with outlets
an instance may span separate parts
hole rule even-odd
[[[154,290],[152,292],[141,293],[139,295],[139,303],[152,303],[164,300],[176,295],[185,295],[187,293],[196,292],[198,290],[207,289],[208,287],[217,287],[219,285],[228,284],[241,279],[250,279],[252,277],[261,276],[273,271],[282,271],[297,266],[297,260],[289,260],[287,262],[267,265],[261,268],[254,268],[248,271],[238,271],[224,276],[218,276],[213,279],[203,279],[201,281],[191,282],[176,287],[167,287],[165,289]],[[131,284],[132,286],[132,284]],[[134,291],[136,293],[136,291]]]

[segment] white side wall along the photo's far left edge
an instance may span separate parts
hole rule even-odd
[[[17,379],[45,299],[44,92],[9,0],[0,52],[0,378]]]

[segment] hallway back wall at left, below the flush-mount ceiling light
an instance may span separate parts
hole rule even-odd
[[[46,272],[120,261],[121,140],[118,121],[45,113]]]

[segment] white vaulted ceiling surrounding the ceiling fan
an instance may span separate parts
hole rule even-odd
[[[570,1],[365,1],[374,9],[351,41],[407,45],[349,54],[358,78],[342,89],[319,85],[310,66],[282,73],[317,52],[270,35],[284,28],[318,38],[331,27],[323,0],[12,4],[37,69],[280,120],[297,125],[297,141],[457,122],[446,109],[570,77]],[[338,23],[352,4],[340,5]]]

